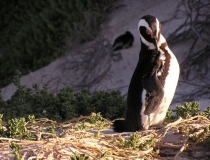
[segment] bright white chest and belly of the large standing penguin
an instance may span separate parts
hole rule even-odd
[[[149,116],[144,114],[145,111],[145,98],[146,98],[146,90],[143,90],[142,93],[142,110],[141,110],[141,122],[144,129],[148,129],[149,126],[160,124],[164,121],[166,112],[171,104],[171,101],[173,99],[178,78],[179,78],[179,63],[174,56],[174,54],[171,52],[171,50],[167,47],[166,48],[168,53],[170,54],[170,65],[168,69],[168,75],[165,79],[165,85],[164,85],[164,96],[163,100],[160,104],[160,106]]]

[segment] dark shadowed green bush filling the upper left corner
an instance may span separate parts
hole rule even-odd
[[[61,56],[67,40],[70,49],[92,40],[115,1],[1,0],[0,87]]]

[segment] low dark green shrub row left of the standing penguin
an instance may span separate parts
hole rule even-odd
[[[88,116],[92,112],[100,112],[104,118],[115,119],[124,116],[125,100],[120,91],[96,91],[87,89],[74,92],[71,88],[63,88],[57,95],[48,91],[44,85],[33,85],[32,89],[20,84],[14,78],[17,91],[10,100],[0,99],[0,114],[3,120],[34,115],[36,118],[49,118],[56,121],[67,121],[80,115]]]

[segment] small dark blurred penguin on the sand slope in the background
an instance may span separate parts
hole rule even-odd
[[[134,37],[131,32],[126,31],[123,35],[117,37],[112,45],[112,50],[117,51],[124,48],[130,48],[133,45]]]

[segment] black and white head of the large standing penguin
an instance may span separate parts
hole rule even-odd
[[[157,18],[151,15],[143,16],[138,24],[141,41],[149,49],[156,49],[160,39],[161,24]]]

